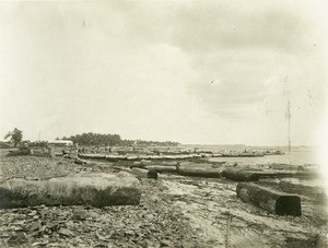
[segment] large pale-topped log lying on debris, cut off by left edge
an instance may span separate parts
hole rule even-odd
[[[49,180],[21,178],[0,184],[0,208],[139,204],[140,184],[131,174],[77,174]]]

